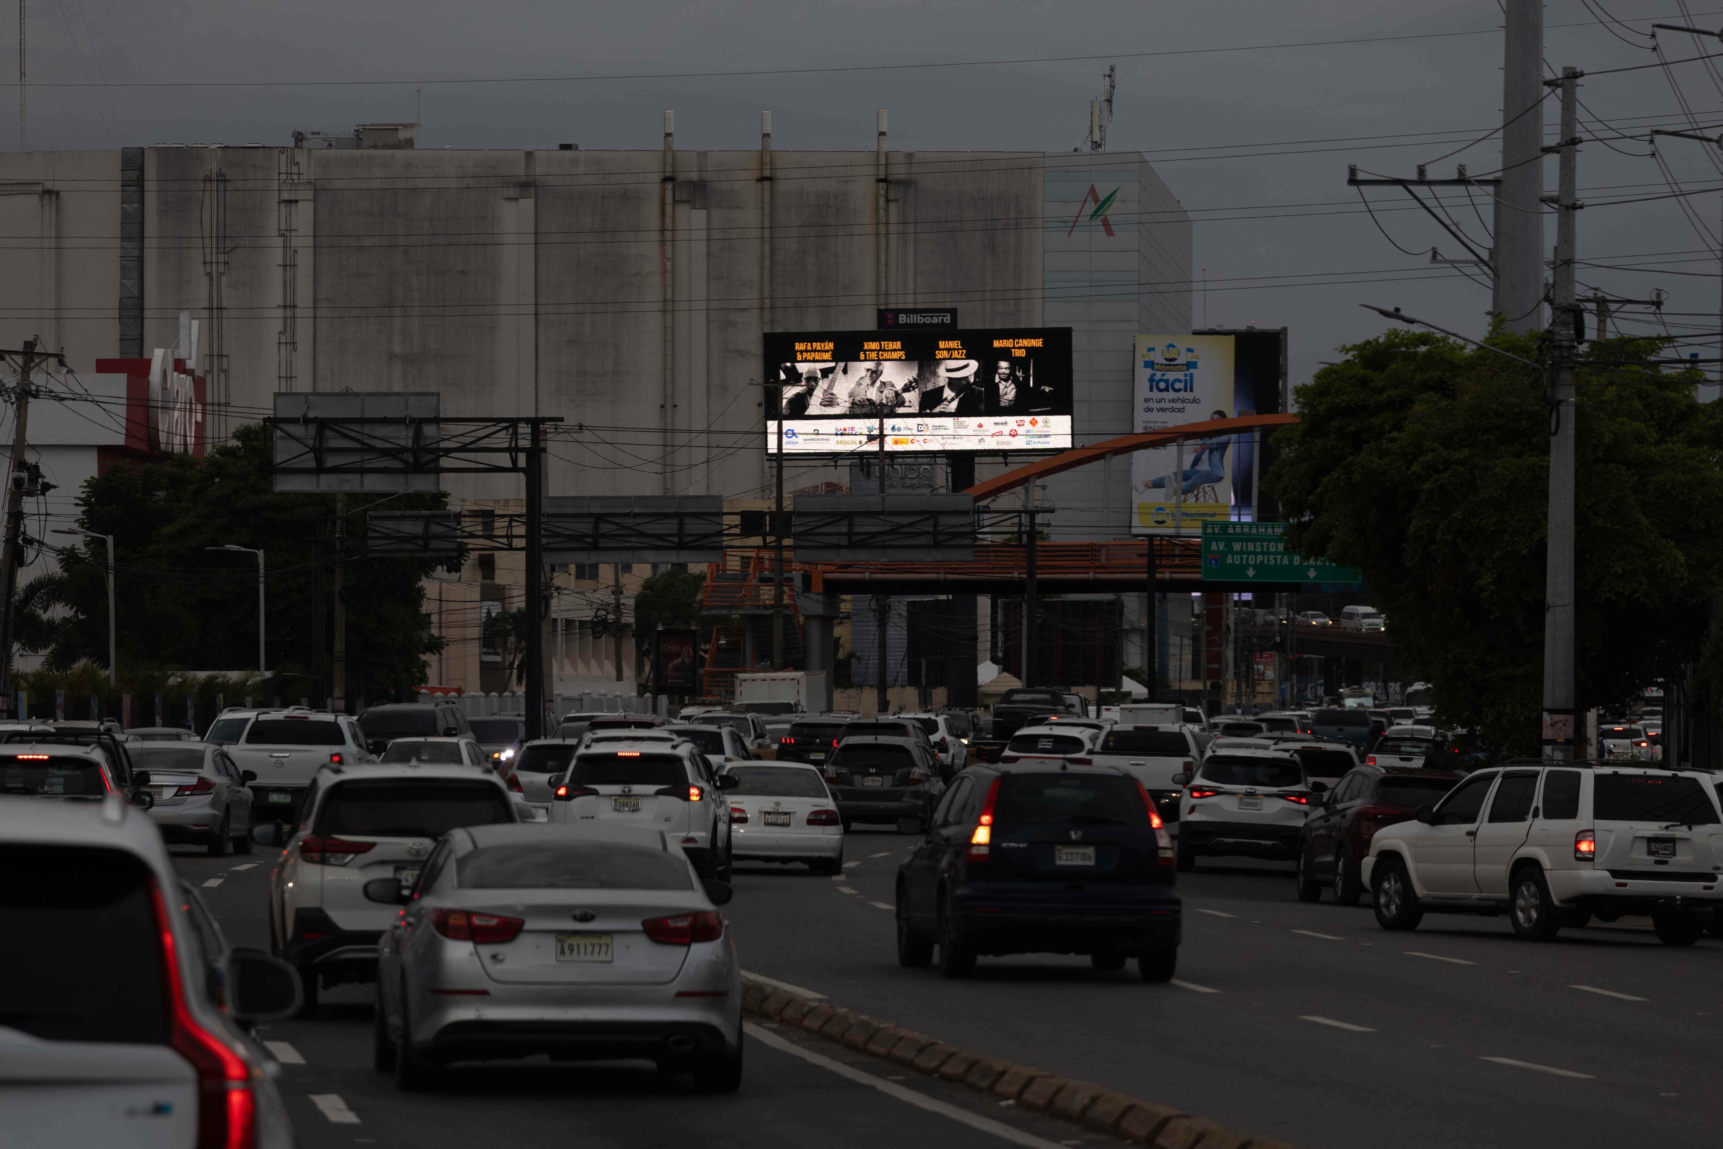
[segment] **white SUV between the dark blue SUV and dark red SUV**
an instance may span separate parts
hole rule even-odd
[[[1211,751],[1196,777],[1175,773],[1179,796],[1179,868],[1201,854],[1296,858],[1313,794],[1304,765],[1282,749]]]

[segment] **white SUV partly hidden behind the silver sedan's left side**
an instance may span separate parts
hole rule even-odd
[[[365,882],[419,879],[431,846],[455,827],[517,822],[508,789],[489,770],[441,765],[326,767],[312,779],[295,825],[252,830],[286,844],[269,879],[269,935],[300,972],[305,1011],[319,982],[369,982],[377,937],[398,913],[364,894]]]

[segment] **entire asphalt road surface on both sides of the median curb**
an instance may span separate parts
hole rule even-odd
[[[893,880],[908,844],[858,827],[837,879],[739,868],[725,915],[743,966],[975,1053],[1303,1146],[1571,1149],[1647,1135],[1699,1146],[1723,1120],[1713,1087],[1723,942],[1666,949],[1649,929],[1594,925],[1530,944],[1506,918],[1439,915],[1387,934],[1368,908],[1296,901],[1291,866],[1215,861],[1180,875],[1172,985],[1063,956],[982,958],[973,980],[948,982],[896,963]],[[203,894],[236,944],[267,946],[267,853],[179,865],[195,884],[221,877]],[[593,1146],[1010,1144],[958,1111],[1049,1146],[1110,1144],[825,1042],[798,1039],[796,1053],[751,1039],[732,1097],[644,1068],[548,1063],[457,1071],[436,1094],[403,1097],[370,1070],[369,989],[333,991],[319,1018],[267,1030],[305,1061],[286,1065],[284,1080],[307,1147],[531,1146],[572,1130]],[[868,1084],[894,1077],[953,1113]],[[338,1097],[358,1123],[333,1121],[312,1096]]]

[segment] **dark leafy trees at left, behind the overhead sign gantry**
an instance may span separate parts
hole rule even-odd
[[[174,456],[143,467],[115,465],[84,482],[79,525],[114,536],[121,670],[174,667],[245,670],[257,663],[257,563],[252,555],[210,551],[262,548],[267,558],[269,670],[312,668],[314,541],[331,532],[333,494],[277,494],[269,474],[271,436],[260,424],[234,431],[203,460]],[[364,532],[377,496],[348,496],[346,531]],[[389,510],[434,510],[443,494],[388,498]],[[324,544],[334,558],[333,543]],[[107,550],[100,539],[64,553],[65,637],[50,661],[88,658],[107,665]],[[369,558],[350,550],[345,565],[348,696],[405,696],[426,680],[424,656],[439,649],[424,613],[420,579],[438,563]],[[333,622],[326,579],[326,625]],[[322,636],[324,649],[329,634]],[[62,651],[64,646],[64,651]],[[326,694],[308,684],[305,694]]]

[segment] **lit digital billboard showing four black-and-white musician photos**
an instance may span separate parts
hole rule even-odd
[[[765,336],[765,439],[786,455],[1063,451],[1070,327]],[[781,398],[782,396],[782,398]]]

